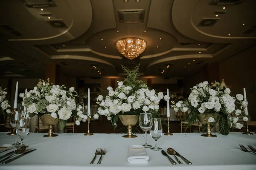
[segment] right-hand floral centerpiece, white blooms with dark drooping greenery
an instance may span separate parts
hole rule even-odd
[[[237,129],[243,127],[241,123],[237,123],[239,118],[230,116],[231,113],[234,112],[236,116],[241,115],[244,121],[248,120],[248,113],[245,111],[248,102],[244,101],[243,95],[237,94],[236,97],[233,97],[230,93],[229,88],[224,91],[216,91],[205,81],[191,88],[188,101],[172,102],[174,104],[172,107],[176,112],[188,111],[189,126],[197,120],[200,114],[214,114],[208,119],[208,122],[219,123],[220,133],[228,135],[233,124]]]

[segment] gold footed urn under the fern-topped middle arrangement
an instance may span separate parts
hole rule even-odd
[[[136,125],[138,121],[138,117],[136,115],[119,115],[119,119],[121,120],[122,124],[127,126],[128,133],[124,135],[124,138],[136,138],[136,135],[133,135],[131,132],[132,126]]]

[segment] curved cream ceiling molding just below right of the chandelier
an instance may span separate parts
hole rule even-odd
[[[177,59],[189,59],[189,58],[212,58],[213,55],[212,54],[202,54],[202,55],[198,55],[198,54],[191,54],[191,55],[180,55],[180,56],[174,56],[174,57],[166,57],[163,59],[158,59],[154,62],[151,62],[147,68],[151,67],[152,65],[161,63],[161,62],[169,62],[169,61],[173,61],[173,60],[177,60]]]

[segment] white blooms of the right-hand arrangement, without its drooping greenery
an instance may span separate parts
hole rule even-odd
[[[244,121],[248,120],[247,113],[245,108],[247,107],[248,102],[244,101],[244,96],[241,94],[237,94],[236,98],[230,96],[230,89],[225,88],[224,91],[215,91],[212,89],[208,82],[201,82],[198,85],[195,85],[191,88],[191,94],[189,95],[187,102],[179,101],[175,104],[172,102],[172,107],[174,110],[186,112],[195,111],[198,114],[211,114],[211,113],[219,113],[222,114],[225,111],[228,114],[235,112],[236,116],[242,115],[242,111],[245,113],[243,116]],[[236,109],[236,105],[240,104],[240,109]],[[233,118],[228,116],[230,120],[229,127],[232,127],[233,124],[236,125],[236,128],[241,129],[243,126],[240,123],[237,123],[238,118]],[[215,122],[214,118],[209,118],[208,122]]]

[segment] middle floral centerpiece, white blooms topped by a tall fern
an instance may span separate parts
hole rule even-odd
[[[140,64],[130,71],[122,65],[127,78],[119,81],[115,90],[108,87],[108,96],[98,96],[99,108],[94,118],[104,115],[116,127],[118,115],[140,115],[148,112],[152,113],[153,117],[157,117],[160,100],[165,98],[167,101],[169,96],[163,96],[162,92],[156,94],[155,90],[150,90],[144,81],[137,80],[139,66]]]

